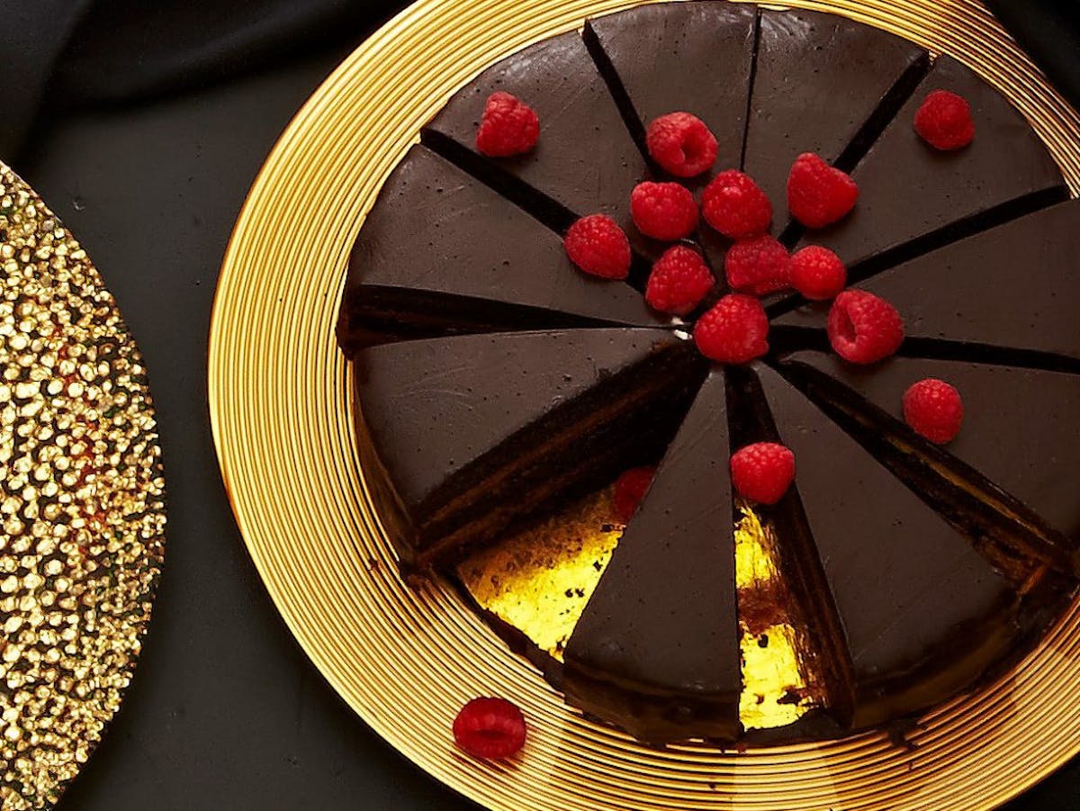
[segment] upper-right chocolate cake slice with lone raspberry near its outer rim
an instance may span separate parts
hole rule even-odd
[[[915,132],[915,113],[935,90],[971,105],[975,139],[963,149],[936,150]],[[849,268],[870,259],[886,265],[1067,197],[1062,173],[1020,111],[948,56],[934,62],[852,178],[859,202],[851,214],[804,240],[832,248]]]

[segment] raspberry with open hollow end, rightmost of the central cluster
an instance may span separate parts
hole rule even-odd
[[[866,290],[845,290],[828,311],[828,341],[845,361],[876,363],[904,340],[896,308]]]

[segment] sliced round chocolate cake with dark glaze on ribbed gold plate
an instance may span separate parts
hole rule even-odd
[[[940,91],[970,110],[960,148],[913,125]],[[477,145],[500,93],[539,121],[503,157]],[[715,139],[689,178],[652,143],[673,112]],[[931,123],[951,126],[946,112]],[[858,188],[815,228],[792,197],[806,153]],[[643,233],[631,192],[677,181],[701,199],[729,170],[771,201],[785,256],[828,248],[849,290],[895,308],[899,350],[845,360],[834,333],[854,327],[836,305],[779,284],[754,290],[767,351],[717,361],[702,325],[743,259],[712,220],[680,241],[707,294],[681,315],[647,302],[670,244]],[[568,231],[597,214],[629,241],[625,280],[571,260]],[[648,743],[902,731],[1015,662],[1076,591],[1077,255],[1080,204],[1045,147],[947,56],[721,0],[591,19],[456,93],[367,215],[338,325],[367,485],[403,570],[423,577],[654,467],[565,645],[497,630],[569,703]],[[947,443],[905,409],[928,378],[963,397]],[[757,443],[794,455],[775,503],[732,482],[732,455]],[[773,541],[768,587],[747,576],[747,533]],[[778,618],[804,676],[782,701],[800,709],[762,729],[746,639],[775,646]]]

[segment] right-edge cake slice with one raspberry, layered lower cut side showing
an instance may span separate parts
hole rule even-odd
[[[892,430],[930,451],[924,475],[975,487],[1003,513],[1050,539],[1061,556],[1080,545],[1080,376],[961,361],[893,357],[867,368],[824,352],[796,352],[785,367],[824,382],[834,398],[868,401],[891,417]],[[955,386],[966,405],[960,433],[942,452],[903,428],[903,396],[923,378]],[[829,386],[832,383],[832,386]],[[863,409],[865,410],[865,408]],[[869,419],[874,419],[869,416]],[[959,461],[961,464],[955,463]],[[944,470],[934,472],[936,462]],[[948,471],[948,472],[944,472]],[[1075,563],[1075,560],[1074,560]]]

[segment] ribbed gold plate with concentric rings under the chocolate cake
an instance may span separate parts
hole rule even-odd
[[[634,4],[421,0],[346,59],[286,130],[237,224],[211,333],[214,436],[248,550],[293,633],[355,712],[488,808],[994,808],[1080,751],[1080,605],[1012,672],[923,718],[914,748],[866,733],[744,753],[658,751],[567,707],[449,583],[414,591],[397,575],[353,450],[349,370],[334,342],[349,248],[450,93],[526,44]],[[1080,119],[976,0],[789,5],[845,14],[970,65],[1028,117],[1080,189]],[[613,541],[593,542],[603,554]],[[551,644],[565,632],[549,630]],[[513,699],[529,720],[512,762],[481,763],[453,745],[455,714],[481,694]]]

